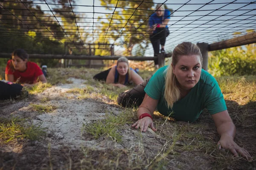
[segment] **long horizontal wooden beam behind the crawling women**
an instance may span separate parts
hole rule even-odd
[[[37,59],[96,59],[96,60],[117,60],[122,56],[90,56],[90,55],[60,55],[60,54],[29,54],[29,58]],[[0,58],[11,58],[11,53],[0,53]],[[157,57],[126,57],[129,60],[135,61],[150,61]]]

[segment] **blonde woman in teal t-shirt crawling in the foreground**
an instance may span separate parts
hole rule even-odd
[[[139,86],[140,89],[145,87],[144,98],[143,92],[138,94],[141,91]],[[177,45],[172,53],[172,64],[160,68],[149,82],[139,86],[120,94],[118,99],[123,106],[131,105],[131,102],[140,105],[137,111],[139,120],[132,127],[140,128],[142,132],[148,127],[156,131],[152,120],[155,108],[165,116],[186,122],[194,122],[207,108],[220,135],[219,149],[229,149],[235,156],[240,153],[247,159],[251,157],[233,140],[236,127],[227,112],[217,81],[202,69],[202,54],[197,45],[191,42]]]

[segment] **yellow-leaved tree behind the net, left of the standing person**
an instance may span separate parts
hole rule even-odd
[[[101,0],[101,5],[108,6],[106,9],[112,9],[112,11],[111,6],[116,7],[113,14],[106,14],[108,22],[101,22],[102,34],[105,35],[101,41],[105,42],[108,39],[106,37],[109,36],[115,43],[120,42],[119,45],[123,45],[126,49],[125,54],[131,56],[135,44],[149,39],[148,16],[154,12],[152,11],[154,10],[153,0],[144,0],[143,2]]]

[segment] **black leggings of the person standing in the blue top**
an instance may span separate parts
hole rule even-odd
[[[166,42],[166,37],[169,35],[166,28],[156,28],[157,33],[151,34],[149,36],[151,44],[154,49],[154,57],[157,57],[160,51],[160,44],[163,46]],[[154,61],[155,65],[158,64],[158,60]]]

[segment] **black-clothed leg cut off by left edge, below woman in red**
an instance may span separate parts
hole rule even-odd
[[[11,99],[21,94],[23,86],[0,81],[0,100]]]

